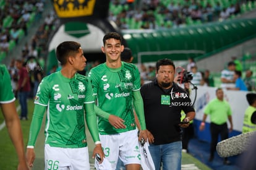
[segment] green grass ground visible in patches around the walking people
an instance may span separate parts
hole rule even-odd
[[[17,106],[19,105],[17,101],[16,101],[16,105]],[[30,128],[30,122],[32,120],[33,108],[34,108],[33,100],[28,100],[28,121],[20,121],[22,125],[23,141],[25,146],[27,145],[27,142],[28,142],[28,132]],[[18,114],[20,114],[20,111],[18,111]],[[0,124],[2,124],[3,121],[4,121],[4,117],[2,116],[2,113],[0,113]],[[45,122],[43,122],[40,133],[36,140],[36,145],[35,145],[36,159],[35,159],[34,168],[33,168],[35,170],[44,169],[44,142],[45,142],[44,127],[45,127]],[[17,168],[18,159],[6,127],[0,130],[0,138],[1,138],[0,169],[15,170]],[[88,128],[87,128],[87,139],[88,139],[88,151],[90,155],[90,164],[93,164],[94,160],[92,159],[92,151],[93,151],[94,143],[92,141],[92,137],[90,133],[88,132]],[[182,153],[182,169],[210,170],[208,166],[201,163],[200,161],[198,161],[198,159],[194,158],[193,156],[187,153]]]

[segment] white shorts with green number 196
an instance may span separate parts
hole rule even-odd
[[[90,169],[88,147],[58,148],[45,145],[45,170]]]

